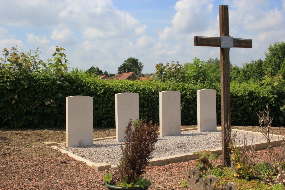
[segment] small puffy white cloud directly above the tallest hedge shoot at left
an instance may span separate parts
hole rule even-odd
[[[54,28],[50,36],[51,39],[56,40],[60,46],[76,44],[77,38],[74,36],[74,32],[69,28],[58,30]]]

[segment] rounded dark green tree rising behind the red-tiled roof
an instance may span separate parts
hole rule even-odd
[[[118,73],[135,72],[136,75],[142,76],[143,67],[143,63],[139,62],[139,59],[130,57],[119,66]]]

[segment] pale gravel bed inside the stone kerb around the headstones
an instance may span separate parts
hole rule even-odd
[[[233,133],[232,133],[233,134]],[[210,132],[198,132],[197,130],[182,131],[179,136],[158,137],[155,144],[153,158],[173,156],[221,148],[221,130]],[[236,142],[247,139],[247,143],[265,141],[264,136],[248,136],[244,133],[237,133]],[[272,138],[277,139],[277,137]],[[58,145],[60,148],[72,152],[78,156],[86,158],[94,163],[106,162],[108,164],[118,164],[121,157],[121,143],[116,139],[105,139],[93,141],[92,146],[66,148],[65,144]]]

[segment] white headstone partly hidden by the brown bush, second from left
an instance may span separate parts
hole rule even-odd
[[[116,140],[125,141],[125,129],[130,119],[139,119],[139,94],[115,94]]]

